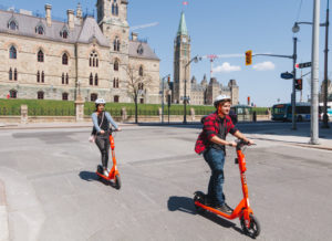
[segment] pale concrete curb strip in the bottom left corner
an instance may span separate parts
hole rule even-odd
[[[9,241],[9,226],[6,200],[4,184],[0,179],[0,241]]]

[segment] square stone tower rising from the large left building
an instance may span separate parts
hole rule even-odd
[[[121,102],[131,102],[125,91],[127,74],[121,66],[129,63],[129,25],[127,22],[127,0],[97,0],[97,23],[110,43],[111,81],[120,86],[111,90],[111,98],[121,96]],[[117,69],[112,67],[116,63]]]

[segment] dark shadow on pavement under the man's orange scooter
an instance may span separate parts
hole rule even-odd
[[[167,201],[167,207],[168,207],[169,211],[183,211],[183,212],[194,214],[194,216],[200,214],[201,217],[204,217],[219,226],[222,226],[224,228],[232,228],[234,230],[243,234],[242,229],[238,228],[234,222],[222,219],[219,216],[216,216],[208,211],[204,212],[204,213],[198,213],[196,211],[193,198],[172,196],[172,197],[169,197],[169,199]]]

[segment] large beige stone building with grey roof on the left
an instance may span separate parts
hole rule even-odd
[[[133,102],[128,70],[141,103],[159,103],[159,59],[129,36],[127,0],[97,0],[97,21],[68,10],[68,20],[27,10],[0,10],[0,98]],[[138,83],[139,82],[139,83]]]

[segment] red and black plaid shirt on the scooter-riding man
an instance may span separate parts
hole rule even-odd
[[[217,112],[208,115],[205,118],[203,130],[199,134],[195,145],[195,151],[197,154],[201,154],[207,147],[209,147],[212,144],[210,139],[214,136],[217,136],[218,133],[220,132],[221,122],[222,119],[220,118],[220,116],[218,116]],[[228,133],[234,135],[238,130],[232,124],[231,118],[228,115],[224,118],[222,126],[225,125],[226,125],[226,135]]]

